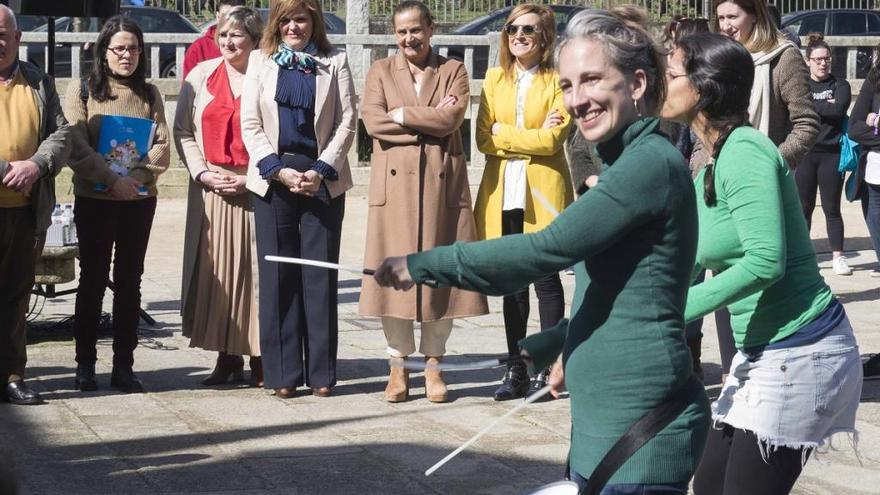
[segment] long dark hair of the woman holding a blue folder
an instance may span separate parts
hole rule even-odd
[[[91,97],[97,101],[107,101],[116,99],[116,96],[110,92],[110,67],[107,65],[107,48],[110,46],[110,38],[119,32],[126,32],[135,35],[138,40],[138,46],[141,48],[138,57],[138,65],[134,69],[134,73],[126,79],[130,83],[131,90],[134,94],[140,96],[145,101],[153,104],[153,94],[147,84],[147,64],[145,62],[145,46],[144,33],[140,26],[129,17],[117,15],[107,19],[101,32],[98,33],[98,41],[95,42],[94,60],[92,61],[92,70],[89,73],[89,93]]]

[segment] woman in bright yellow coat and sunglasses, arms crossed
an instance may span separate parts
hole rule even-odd
[[[553,70],[555,39],[553,11],[543,5],[514,8],[501,32],[501,67],[486,73],[477,116],[477,146],[486,154],[474,208],[481,239],[541,230],[573,200],[563,151],[571,117]],[[535,282],[535,292],[541,329],[550,328],[565,312],[559,274]],[[528,319],[528,287],[504,296],[512,355],[519,353],[517,342],[526,336]],[[511,364],[495,400],[530,395],[544,387],[548,376],[549,369],[542,370],[530,388],[525,365]]]

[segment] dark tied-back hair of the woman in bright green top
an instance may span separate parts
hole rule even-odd
[[[700,95],[695,112],[702,112],[709,126],[719,132],[706,166],[703,197],[715,206],[715,161],[734,129],[749,125],[749,99],[755,66],[748,50],[736,41],[715,33],[698,33],[678,40],[688,80]]]

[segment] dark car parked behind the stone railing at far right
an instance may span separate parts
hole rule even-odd
[[[820,9],[804,10],[786,14],[782,27],[798,36],[822,33],[826,36],[877,36],[880,35],[880,12],[869,9]],[[856,77],[863,78],[871,68],[873,46],[860,47],[856,52]],[[834,57],[831,72],[846,77],[846,51],[844,47],[832,48]]]

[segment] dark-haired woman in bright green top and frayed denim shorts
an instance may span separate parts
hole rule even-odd
[[[737,354],[718,400],[717,429],[697,495],[791,490],[812,449],[853,433],[862,383],[843,306],[819,275],[791,169],[748,124],[753,75],[742,45],[717,34],[679,41],[661,116],[688,124],[712,150],[695,180],[697,269],[688,321],[728,307]]]

